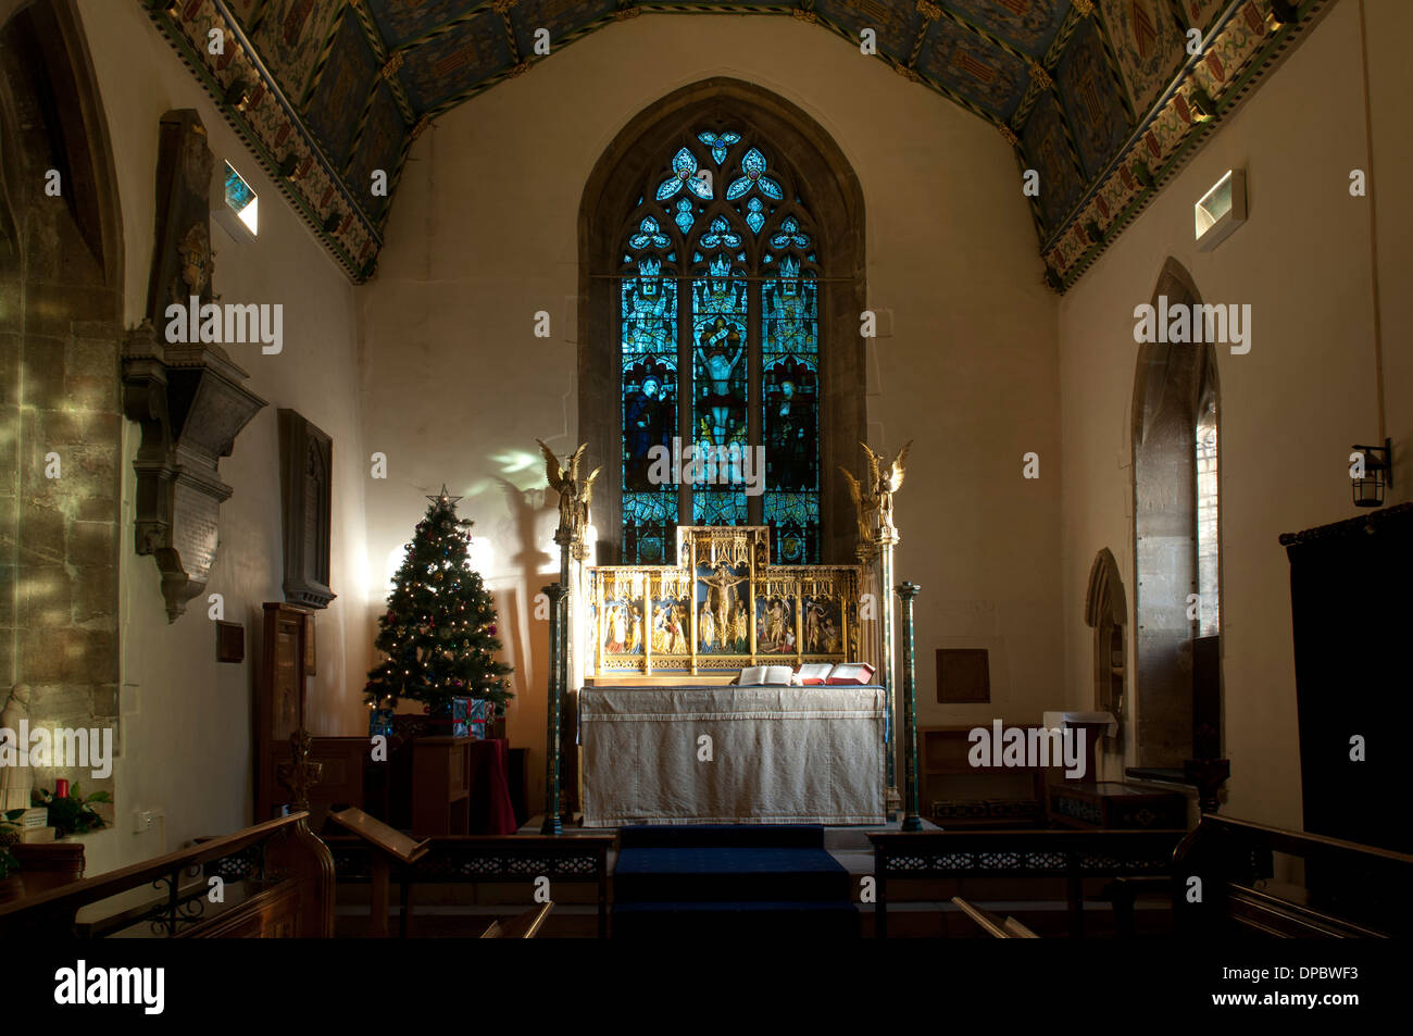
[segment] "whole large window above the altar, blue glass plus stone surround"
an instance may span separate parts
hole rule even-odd
[[[776,564],[855,561],[838,469],[866,438],[863,216],[839,146],[755,83],[684,86],[608,144],[579,204],[575,339],[601,563],[674,564],[681,524],[773,526]],[[702,445],[712,465],[681,462]]]

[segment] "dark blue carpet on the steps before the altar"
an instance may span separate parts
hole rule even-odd
[[[616,937],[858,937],[853,883],[822,827],[630,827],[620,845]]]

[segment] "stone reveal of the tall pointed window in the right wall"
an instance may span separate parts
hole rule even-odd
[[[1169,257],[1154,308],[1200,305],[1191,274]],[[1217,407],[1217,353],[1200,345],[1147,342],[1133,376],[1133,687],[1137,765],[1181,767],[1193,758],[1190,594],[1198,592],[1197,425]]]

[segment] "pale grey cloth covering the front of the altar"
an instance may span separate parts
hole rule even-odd
[[[584,827],[885,823],[880,687],[585,687],[578,708]]]

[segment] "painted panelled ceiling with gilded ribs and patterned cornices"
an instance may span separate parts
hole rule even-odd
[[[841,47],[873,42],[870,59],[992,123],[1039,174],[1027,196],[1060,291],[1328,3],[136,1],[356,281],[376,266],[411,143],[437,116],[639,14],[753,13],[828,30]]]

